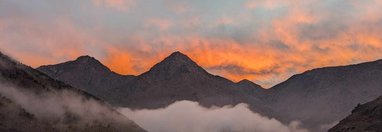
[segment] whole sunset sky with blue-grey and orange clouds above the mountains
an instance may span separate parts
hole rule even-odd
[[[32,67],[90,55],[139,75],[174,51],[269,88],[382,59],[381,0],[0,0],[0,51]]]

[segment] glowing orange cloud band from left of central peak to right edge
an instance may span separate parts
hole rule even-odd
[[[264,30],[255,43],[239,43],[229,38],[160,36],[154,43],[160,43],[161,48],[156,49],[158,45],[139,38],[143,39],[140,41],[143,43],[135,48],[150,50],[135,52],[136,49],[122,48],[118,52],[110,51],[110,54],[135,53],[126,55],[127,57],[109,56],[108,59],[113,60],[113,63],[108,59],[105,61],[110,62],[107,65],[117,72],[140,74],[171,52],[180,50],[213,74],[233,81],[247,78],[270,87],[275,82],[305,70],[371,61],[382,57],[379,52],[382,50],[381,37],[378,36],[380,31],[365,30],[357,25],[339,32],[336,36],[319,40],[303,39],[298,28],[318,21],[319,19],[309,14],[290,15],[274,21],[272,28]],[[322,30],[311,32],[321,34]],[[279,41],[281,46],[275,47],[272,40]],[[353,45],[358,47],[354,48]],[[150,46],[151,48],[148,48]]]

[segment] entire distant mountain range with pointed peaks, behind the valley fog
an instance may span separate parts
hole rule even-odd
[[[114,106],[155,109],[180,100],[205,107],[247,103],[254,112],[284,123],[298,120],[313,131],[329,129],[357,104],[382,94],[382,60],[309,70],[269,89],[212,75],[180,52],[138,76],[112,72],[90,56],[37,69]]]

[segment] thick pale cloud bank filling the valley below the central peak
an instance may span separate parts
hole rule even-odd
[[[307,132],[298,122],[284,125],[251,112],[245,104],[207,109],[179,101],[163,109],[119,111],[151,132]]]

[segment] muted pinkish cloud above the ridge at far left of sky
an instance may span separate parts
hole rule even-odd
[[[75,59],[86,54],[86,48],[97,41],[64,19],[52,25],[22,18],[3,22],[0,50],[33,67]]]

